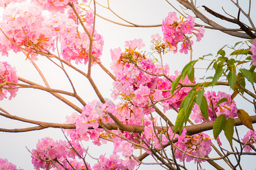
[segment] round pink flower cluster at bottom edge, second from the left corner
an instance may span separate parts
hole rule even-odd
[[[82,163],[77,162],[75,158],[77,154],[82,156],[84,149],[80,146],[79,142],[70,142],[72,146],[66,141],[53,141],[49,137],[38,140],[36,149],[32,150],[31,155],[34,168],[39,170],[40,168],[51,169],[62,167],[61,169],[65,169],[71,167],[69,163],[73,163],[73,167],[81,167]]]

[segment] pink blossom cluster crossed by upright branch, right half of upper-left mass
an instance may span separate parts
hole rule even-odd
[[[86,29],[92,33],[93,29],[93,13],[87,11],[85,14],[77,8],[80,16],[83,16],[86,22]],[[76,63],[84,61],[86,64],[89,61],[89,45],[90,40],[85,31],[79,31],[78,24],[80,24],[76,15],[72,10],[68,10],[68,14],[61,14],[58,12],[50,19],[50,27],[52,34],[56,36],[61,44],[61,56],[65,61]],[[98,61],[102,54],[104,41],[100,34],[94,31],[92,42],[92,54]]]

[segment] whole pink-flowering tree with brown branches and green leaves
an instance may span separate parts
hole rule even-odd
[[[28,148],[35,169],[135,169],[141,164],[188,169],[185,162],[191,161],[198,169],[204,168],[203,162],[224,169],[216,163],[217,160],[222,160],[231,169],[242,169],[242,155],[256,155],[253,128],[256,116],[250,116],[253,113],[248,114],[245,108],[236,105],[237,96],[241,96],[241,100],[247,102],[246,107],[255,109],[256,40],[253,39],[256,29],[250,18],[251,2],[246,13],[238,2],[231,0],[238,8],[237,18],[228,18],[207,6],[203,6],[205,11],[199,11],[193,1],[177,2],[187,11],[177,10],[167,1],[176,12],[169,12],[162,24],[138,25],[121,18],[110,8],[109,2],[104,6],[85,0],[1,1],[4,8],[0,24],[2,56],[8,56],[11,50],[23,53],[44,85],[18,76],[14,66],[6,61],[0,62],[0,100],[7,97],[11,100],[19,95],[21,88],[34,88],[48,92],[74,110],[73,113],[64,113],[66,121],[57,124],[14,116],[8,108],[0,108],[2,117],[36,125],[1,128],[0,131],[22,133],[46,128],[63,129],[66,141],[45,137],[39,139],[36,148]],[[110,10],[129,24],[104,18],[97,14],[97,6]],[[191,11],[195,17],[187,15]],[[237,24],[240,28],[225,28],[205,14]],[[251,26],[240,21],[240,14]],[[111,71],[107,69],[101,62],[104,36],[96,31],[96,16],[126,27],[162,27],[163,36],[156,32],[151,36],[150,53],[157,57],[152,58],[142,50],[145,46],[142,39],[128,40],[125,46],[110,49]],[[206,25],[196,23],[195,18]],[[203,39],[205,28],[251,40],[229,46],[232,50],[229,55],[224,46],[218,50],[217,56],[208,54],[193,58],[194,41],[200,43],[197,41]],[[164,57],[172,53],[190,55],[189,62],[174,75],[163,62]],[[71,91],[51,88],[40,65],[36,64],[40,58],[46,58],[63,71]],[[205,69],[212,72],[207,72],[207,78],[197,80],[195,66],[201,61],[210,61]],[[93,66],[100,66],[113,80],[111,96],[104,97],[94,82]],[[88,80],[98,100],[81,97],[69,73],[71,70]],[[230,94],[209,90],[213,86],[229,87]],[[170,113],[177,117],[170,116]],[[249,131],[240,133],[237,128],[240,125]],[[205,132],[208,130],[211,133]],[[220,138],[222,130],[225,137]],[[225,138],[229,148],[222,146]],[[85,141],[97,146],[112,143],[112,154],[93,158],[82,145]],[[217,156],[210,155],[213,152]],[[145,162],[150,156],[150,162]],[[97,162],[88,162],[88,157]],[[7,159],[0,159],[0,162],[2,169],[17,169]]]

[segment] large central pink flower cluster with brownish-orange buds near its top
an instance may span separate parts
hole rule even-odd
[[[162,73],[168,75],[168,65],[164,65],[162,68],[162,66],[153,63],[151,59],[146,58],[144,54],[135,51],[138,45],[137,42],[137,40],[126,41],[126,46],[129,45],[129,49],[126,49],[125,53],[122,53],[121,48],[110,50],[113,61],[111,69],[114,71],[117,80],[113,83],[113,99],[122,96],[122,99],[127,101],[130,109],[133,110],[133,106],[137,107],[135,111],[138,111],[138,108],[146,108],[148,103],[151,104],[151,100],[155,102],[161,101],[160,103],[163,105],[164,111],[170,109],[170,105],[179,108],[181,101],[191,90],[191,87],[181,88],[180,91],[170,98],[172,94],[167,90],[171,88],[171,81],[167,78],[155,76]],[[141,48],[142,45],[139,44],[138,46]],[[131,49],[131,47],[134,49]],[[171,80],[175,80],[179,74],[175,71],[174,76],[168,77]],[[183,81],[180,80],[180,82],[191,83],[188,77]],[[195,83],[195,81],[192,83]],[[151,111],[153,112],[154,109]],[[140,113],[136,112],[135,114],[139,115]],[[134,121],[139,121],[144,114],[148,113],[145,111],[142,112],[142,115],[137,117],[138,120]]]

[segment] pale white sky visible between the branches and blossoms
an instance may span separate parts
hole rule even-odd
[[[197,1],[197,3],[200,2],[205,1]],[[209,8],[212,8],[213,10],[222,12],[220,4],[224,4],[223,1],[207,1],[205,4],[201,5],[205,5]],[[136,24],[160,24],[162,23],[162,20],[167,16],[168,12],[174,11],[165,1],[110,1],[110,6],[113,6],[113,10],[117,12],[117,14]],[[203,7],[199,8],[201,11],[204,11]],[[233,12],[235,8],[234,6],[228,6],[225,9],[228,12]],[[97,8],[97,11],[106,18],[113,18],[115,21],[120,21],[119,19],[114,18],[112,14],[109,14],[105,10]],[[234,12],[233,15],[236,16],[236,12]],[[222,22],[221,20],[218,21]],[[155,33],[162,35],[162,29],[160,27],[127,28],[106,22],[100,18],[97,18],[96,30],[104,37],[104,52],[101,56],[101,61],[108,69],[109,63],[111,62],[111,48],[118,48],[120,46],[121,49],[124,49],[124,41],[133,40],[136,38],[143,39],[143,42],[146,44],[143,50],[148,51],[150,47],[151,35]],[[242,39],[225,35],[219,31],[207,30],[205,32],[204,38],[200,42],[196,42],[196,40],[194,40],[193,59],[202,57],[203,55],[209,53],[212,53],[215,56],[218,49],[222,48],[222,46],[225,44],[234,45],[235,42],[241,40]],[[25,61],[25,58],[26,57],[21,54],[11,53],[9,57],[0,57],[0,61],[8,61],[12,66],[15,66],[20,77],[32,80],[39,84],[43,84],[34,67],[32,67],[28,60]],[[168,53],[164,56],[164,63],[168,63],[170,65],[171,73],[174,73],[175,70],[181,71],[187,62],[189,62],[189,54],[184,55],[180,53]],[[46,78],[48,79],[48,82],[52,88],[71,91],[71,87],[69,86],[67,79],[65,79],[63,73],[59,69],[56,69],[54,65],[49,63],[43,57],[39,57],[39,60],[36,61],[36,63],[38,63],[40,69],[42,69],[44,75],[46,75]],[[207,66],[205,66],[204,63],[201,63],[198,67],[205,68]],[[87,67],[82,68],[82,70],[86,70],[86,68]],[[86,101],[86,103],[97,99],[86,78],[77,73],[73,73],[72,70],[67,70],[70,71],[69,73],[71,73],[70,75],[74,79],[77,91]],[[204,74],[204,70],[196,70],[196,75],[198,75],[197,78],[203,77]],[[110,79],[109,76],[104,73],[104,71],[101,71],[98,66],[93,66],[92,77],[94,82],[99,87],[102,95],[104,97],[110,98],[110,94],[112,93],[112,79]],[[216,89],[220,90],[220,88]],[[225,91],[228,92],[229,89],[227,88]],[[242,100],[239,99],[236,101],[238,107],[245,109],[248,112],[253,111],[253,109],[250,107],[246,107],[246,103]],[[77,102],[76,104],[79,105]],[[65,121],[65,116],[75,112],[72,108],[69,108],[67,105],[57,100],[50,94],[39,90],[29,89],[19,89],[18,94],[14,99],[11,101],[2,100],[0,101],[0,106],[6,109],[6,111],[8,111],[10,114],[46,122],[63,123]],[[10,129],[30,126],[18,121],[9,121],[2,117],[0,117],[0,125],[0,128]],[[246,129],[243,128],[242,131],[244,130]],[[211,133],[212,132],[209,134]],[[26,150],[25,146],[32,150],[35,148],[38,139],[46,136],[49,136],[55,140],[64,139],[64,136],[59,129],[45,129],[27,133],[0,133],[0,158],[7,158],[9,162],[17,165],[17,167],[23,169],[32,169],[33,167],[31,164],[30,153]],[[87,147],[89,143],[86,142],[84,145]],[[93,156],[104,154],[104,151],[111,152],[109,151],[109,146],[102,146],[101,148],[98,148],[89,145],[89,153]],[[245,164],[246,161],[249,160],[243,160]],[[211,169],[208,163],[203,165],[206,166],[203,168]],[[91,164],[91,167],[92,166],[93,164]],[[142,167],[141,169],[146,168],[148,167]],[[245,169],[251,168],[254,169],[255,167],[246,167]]]

